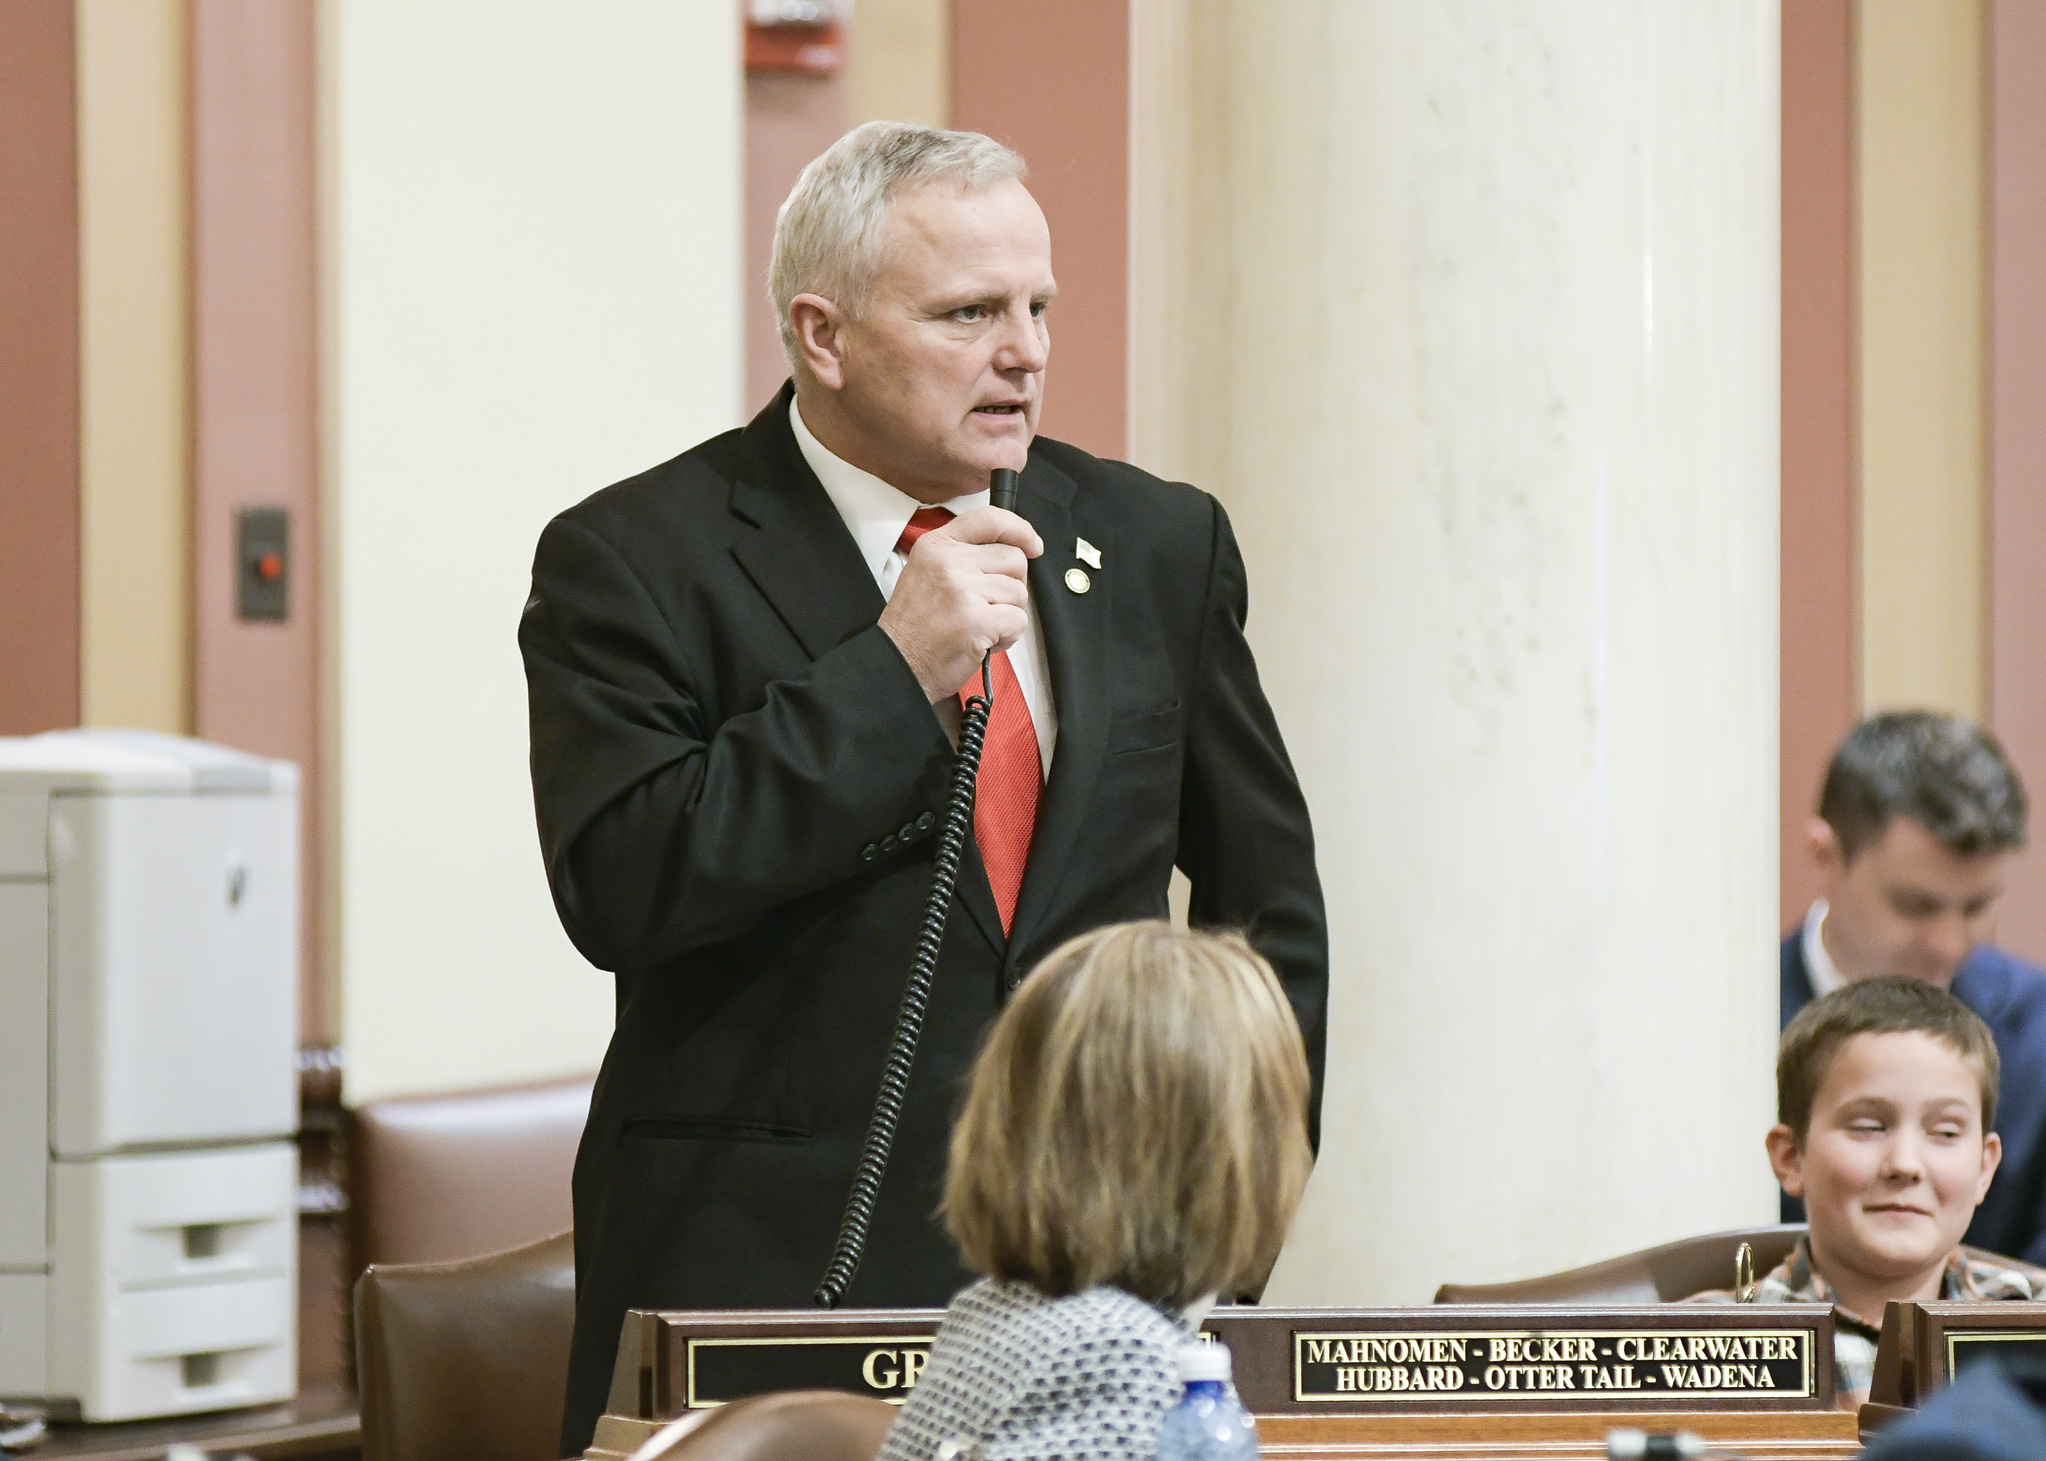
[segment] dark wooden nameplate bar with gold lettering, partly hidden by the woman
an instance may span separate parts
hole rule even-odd
[[[2007,1305],[2015,1308],[2015,1305]],[[937,1310],[634,1312],[610,1410],[673,1418],[771,1389],[908,1400]],[[1831,1410],[1821,1303],[1215,1310],[1256,1414]]]

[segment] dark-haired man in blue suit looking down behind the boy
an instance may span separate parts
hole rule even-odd
[[[1985,941],[2023,839],[2023,786],[1987,730],[1925,710],[1858,724],[1811,823],[1825,896],[1782,943],[1782,1023],[1878,974],[1950,988],[1981,1015],[2003,1062],[2003,1166],[1966,1242],[2046,1263],[2046,974]],[[1794,1197],[1782,1207],[1805,1220]]]

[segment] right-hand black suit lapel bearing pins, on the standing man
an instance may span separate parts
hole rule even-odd
[[[1037,804],[1037,829],[1031,833],[1029,861],[1023,868],[1023,890],[1017,894],[1017,917],[1011,927],[1003,974],[1023,974],[1017,964],[1033,954],[1031,939],[1043,927],[1058,884],[1072,864],[1072,845],[1086,823],[1086,808],[1101,776],[1101,757],[1109,745],[1109,600],[1115,591],[1111,532],[1103,524],[1078,526],[1078,487],[1066,473],[1041,458],[1031,458],[1019,483],[1019,507],[1037,536],[1043,555],[1029,565],[1031,602],[1043,626],[1043,651],[1052,661],[1052,696],[1058,704],[1058,745],[1052,751],[1052,780]],[[1078,567],[1072,546],[1086,534],[1103,550],[1103,569],[1088,571],[1088,591],[1066,587],[1066,573]]]

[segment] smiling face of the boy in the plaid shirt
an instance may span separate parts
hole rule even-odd
[[[1954,1046],[1905,1031],[1856,1035],[1825,1072],[1798,1150],[1770,1132],[1770,1164],[1805,1199],[1813,1258],[1862,1283],[1921,1279],[1946,1263],[1997,1175],[1983,1087]]]

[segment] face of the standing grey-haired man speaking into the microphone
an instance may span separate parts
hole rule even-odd
[[[868,471],[925,501],[1021,469],[1052,350],[1052,231],[1021,182],[902,192],[863,317],[841,334],[839,407]]]

